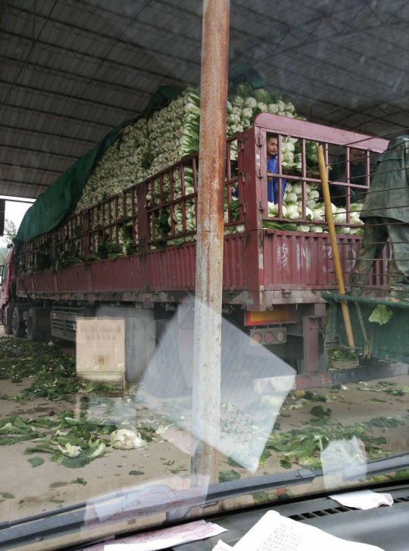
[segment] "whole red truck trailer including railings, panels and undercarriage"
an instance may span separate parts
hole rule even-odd
[[[265,227],[274,222],[279,228],[280,223],[288,222],[280,194],[278,216],[268,214],[268,133],[277,134],[279,147],[288,137],[298,138],[300,144],[300,173],[284,174],[279,161],[277,174],[280,186],[284,177],[288,182],[301,182],[302,212],[297,223],[309,222],[305,219],[306,186],[320,183],[317,174],[307,169],[308,141],[323,145],[328,165],[339,154],[346,156],[347,179],[331,182],[331,186],[345,190],[347,224],[350,190],[359,187],[349,179],[350,149],[363,150],[366,180],[361,187],[366,189],[371,157],[387,147],[381,138],[267,113],[259,114],[253,127],[227,139],[224,316],[249,334],[251,345],[270,348],[296,368],[300,388],[372,378],[376,373],[369,373],[366,367],[353,372],[327,371],[322,291],[336,289],[329,235]],[[192,304],[185,299],[194,294],[195,286],[195,230],[188,210],[196,203],[198,170],[198,154],[185,157],[119,195],[71,215],[51,233],[21,244],[18,251],[11,249],[3,267],[0,295],[6,333],[17,337],[26,333],[33,340],[51,335],[75,341],[77,316],[124,317],[126,373],[128,380],[136,381],[147,361],[143,353],[148,348],[147,331],[152,334],[153,327],[153,338],[160,343],[164,327],[177,310],[180,322],[174,342],[183,356],[193,341],[192,327],[185,322]],[[193,175],[194,188],[185,190],[188,172]],[[178,192],[176,180],[181,184]],[[236,187],[238,200],[234,201]],[[359,235],[338,235],[346,284],[360,239]],[[108,257],[95,260],[107,242]],[[77,263],[55,266],[57,259],[63,260],[73,250]],[[120,255],[118,251],[122,251]],[[48,264],[40,262],[44,256]],[[386,274],[384,256],[375,263],[371,285],[385,287]],[[165,364],[163,380],[171,369]],[[179,371],[176,366],[174,379],[183,377]]]

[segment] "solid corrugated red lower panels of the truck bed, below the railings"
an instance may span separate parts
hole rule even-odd
[[[246,234],[225,237],[223,289],[225,301],[246,305],[251,310],[263,304],[288,304],[321,301],[320,290],[336,288],[328,234],[265,230],[262,256],[264,283],[252,287],[247,259]],[[359,236],[338,236],[339,248],[349,282],[359,248]],[[84,262],[59,270],[22,274],[17,280],[20,297],[177,301],[178,296],[194,292],[194,242],[165,250],[137,253],[114,260]],[[317,259],[320,259],[318,262]],[[380,285],[386,276],[386,259],[376,261],[372,283]],[[256,265],[256,268],[258,266]]]

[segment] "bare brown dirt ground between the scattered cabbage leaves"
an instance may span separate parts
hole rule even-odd
[[[389,388],[409,386],[409,376],[395,377],[389,381],[392,383]],[[44,398],[33,398],[26,403],[19,403],[12,399],[5,399],[7,396],[16,395],[29,384],[30,380],[23,380],[20,383],[1,382],[3,399],[0,399],[0,418],[13,413],[24,418],[52,416],[62,409],[70,408],[79,412],[78,403],[51,402]],[[286,402],[276,420],[281,431],[301,429],[308,424],[311,419],[311,408],[317,405],[331,408],[332,419],[338,420],[345,426],[376,417],[408,415],[409,395],[391,396],[383,391],[379,381],[351,384],[337,391],[330,388],[317,388],[312,391],[326,396],[328,402],[319,404],[297,398]],[[131,396],[130,392],[119,398],[119,401],[121,404],[125,403],[128,410],[134,411],[135,425],[141,422],[145,424],[152,422],[157,426],[158,404],[143,399],[134,402]],[[274,412],[272,415],[275,415]],[[407,423],[409,424],[409,419]],[[24,454],[29,445],[28,442],[3,445],[0,448],[1,520],[15,520],[59,507],[87,502],[101,494],[140,487],[141,484],[153,481],[163,481],[173,488],[186,487],[189,484],[190,436],[178,428],[174,419],[161,418],[159,424],[165,428],[160,433],[156,433],[155,440],[146,446],[128,451],[108,448],[104,456],[98,457],[81,468],[63,467],[59,463],[50,461],[46,453],[35,454],[44,457],[45,462],[33,468],[28,462],[30,456]],[[407,424],[397,428],[376,428],[372,434],[385,437],[386,444],[381,446],[385,452],[396,453],[409,449]],[[282,453],[273,451],[265,463],[252,474],[240,466],[234,465],[233,470],[242,478],[285,472],[280,465],[282,458]],[[292,468],[296,469],[300,466],[293,464]],[[231,471],[231,469],[228,458],[220,453],[219,471]],[[139,474],[130,474],[132,471]],[[79,483],[78,479],[82,480],[82,483]],[[295,487],[293,491],[297,494],[320,489],[322,489],[322,479]],[[252,503],[252,497],[248,496],[245,501]]]

